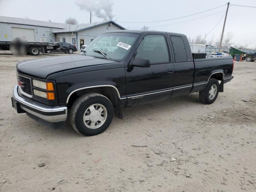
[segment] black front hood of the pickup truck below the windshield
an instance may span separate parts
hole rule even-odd
[[[46,79],[50,74],[86,66],[114,63],[116,61],[92,56],[57,56],[18,62],[18,73]]]

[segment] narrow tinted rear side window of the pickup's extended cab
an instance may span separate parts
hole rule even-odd
[[[172,41],[172,47],[174,50],[175,62],[186,62],[188,61],[187,52],[184,41],[179,36],[170,36]]]

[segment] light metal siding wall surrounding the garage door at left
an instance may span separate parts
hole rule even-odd
[[[53,34],[52,31],[57,30],[57,28],[30,26],[30,25],[22,25],[22,24],[10,24],[10,23],[0,23],[0,41],[12,40],[12,30],[11,30],[12,27],[34,29],[36,42],[40,42],[40,37],[45,37],[46,42],[55,42],[55,34]],[[7,38],[5,37],[5,34],[7,34]]]

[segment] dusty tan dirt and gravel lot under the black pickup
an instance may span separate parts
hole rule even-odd
[[[33,58],[0,53],[0,191],[256,191],[256,62],[236,62],[214,104],[194,93],[126,108],[84,137],[12,108],[15,65]]]

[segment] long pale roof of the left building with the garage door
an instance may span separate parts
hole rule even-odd
[[[42,27],[50,27],[50,28],[58,28],[58,29],[64,29],[69,27],[69,24],[64,24],[64,23],[55,23],[55,22],[48,22],[48,21],[38,21],[38,20],[32,20],[32,19],[4,17],[4,16],[0,16],[0,23],[13,23],[13,24],[42,26]]]

